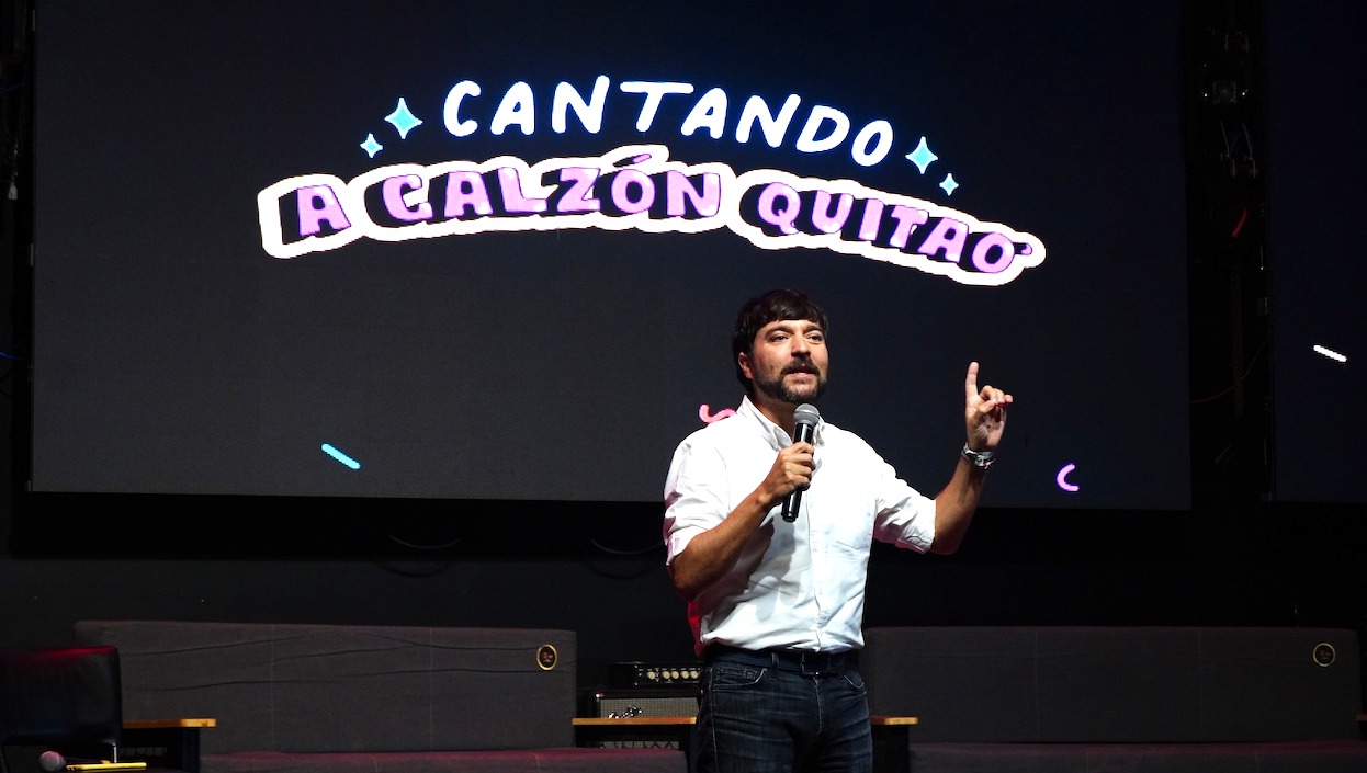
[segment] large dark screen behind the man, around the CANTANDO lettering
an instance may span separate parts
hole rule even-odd
[[[1187,508],[1178,3],[1128,27],[1094,3],[726,5],[357,5],[384,31],[316,0],[36,7],[33,493],[94,493],[92,507],[111,493],[435,498],[454,526],[480,520],[470,501],[644,503],[649,518],[699,406],[740,402],[735,309],[790,285],[831,314],[823,415],[913,485],[950,470],[976,359],[984,382],[1021,397],[1013,464],[986,505]],[[552,86],[582,93],[597,74],[612,81],[601,130],[570,117],[552,131]],[[481,94],[461,117],[481,128],[454,137],[439,119],[465,79]],[[696,92],[637,130],[641,100],[617,87],[629,79]],[[534,131],[495,135],[493,108],[517,82]],[[712,87],[729,96],[727,131],[684,134]],[[785,142],[734,138],[749,94],[778,109],[790,93],[801,107]],[[425,119],[407,138],[383,120],[399,96]],[[817,105],[846,113],[852,134],[886,120],[887,158],[863,167],[846,143],[798,152]],[[373,158],[368,134],[384,145]],[[924,175],[904,158],[919,137],[940,156]],[[853,239],[763,249],[776,239],[752,244],[735,224],[660,234],[571,228],[563,214],[540,220],[550,231],[364,238],[293,258],[262,249],[257,195],[299,175],[615,157],[637,143],[764,179],[852,180],[1032,234],[1047,254],[1009,283],[971,284],[838,251]],[[938,186],[946,173],[953,194]],[[291,203],[269,209],[293,216]],[[324,441],[361,467],[339,466]],[[1066,463],[1076,492],[1055,485]],[[556,509],[562,537],[600,533]]]

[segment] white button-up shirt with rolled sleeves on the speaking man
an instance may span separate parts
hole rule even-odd
[[[686,437],[664,482],[666,561],[749,496],[791,438],[746,397],[735,415]],[[874,539],[924,553],[935,500],[897,477],[864,440],[816,426],[816,470],[797,520],[775,505],[730,574],[689,602],[696,651],[709,642],[760,650],[864,646],[864,583]]]

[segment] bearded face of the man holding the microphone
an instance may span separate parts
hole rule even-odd
[[[826,331],[811,320],[779,320],[760,328],[741,367],[757,399],[789,404],[812,403],[826,391],[830,359]]]

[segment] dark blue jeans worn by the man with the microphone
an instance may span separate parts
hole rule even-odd
[[[696,773],[869,773],[868,694],[854,657],[708,657],[700,677]]]

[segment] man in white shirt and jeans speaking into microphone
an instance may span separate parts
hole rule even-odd
[[[700,680],[700,773],[868,772],[864,645],[872,539],[953,553],[973,518],[1012,396],[968,366],[968,442],[930,498],[863,440],[819,419],[794,442],[794,411],[830,369],[826,311],[793,290],[741,309],[731,336],[746,397],[679,444],[664,486],[674,587],[688,601]],[[798,516],[779,518],[801,490]]]

